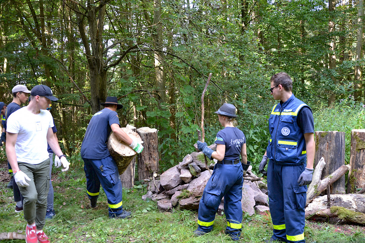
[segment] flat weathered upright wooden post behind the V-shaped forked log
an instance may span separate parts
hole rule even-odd
[[[321,176],[324,179],[345,164],[345,132],[316,132],[315,166],[322,157],[326,161]],[[345,194],[345,175],[335,181],[331,188],[331,194]]]

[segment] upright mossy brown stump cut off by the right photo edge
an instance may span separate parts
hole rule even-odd
[[[356,192],[356,188],[365,187],[365,129],[351,131],[350,165],[347,181],[347,193]]]

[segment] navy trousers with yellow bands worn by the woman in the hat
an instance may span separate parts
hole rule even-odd
[[[204,188],[199,202],[198,230],[209,232],[213,228],[215,213],[224,196],[224,213],[227,220],[227,232],[237,239],[242,230],[242,184],[243,169],[241,163],[216,164],[212,176]]]

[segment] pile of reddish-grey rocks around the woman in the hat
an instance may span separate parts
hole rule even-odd
[[[215,150],[216,145],[210,145],[209,148]],[[210,170],[216,162],[208,159]],[[257,178],[251,169],[252,166],[249,167],[247,176]],[[180,209],[196,210],[210,176],[210,172],[205,168],[203,152],[193,152],[185,156],[178,165],[162,173],[159,180],[151,180],[148,192],[142,199],[157,201],[157,207],[161,211],[170,211],[177,206]],[[267,186],[262,181],[245,180],[242,187],[242,210],[253,215],[255,209],[260,212],[269,210]],[[218,209],[218,213],[222,212],[223,199]]]

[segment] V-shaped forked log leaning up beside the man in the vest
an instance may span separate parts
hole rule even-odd
[[[341,178],[341,176],[345,175],[345,173],[351,168],[350,165],[341,165],[341,167],[335,170],[331,175],[321,180],[320,177],[325,165],[326,162],[324,162],[324,158],[322,157],[314,169],[312,183],[309,185],[307,191],[306,205],[316,196],[319,196],[328,185],[332,185],[335,181]]]

